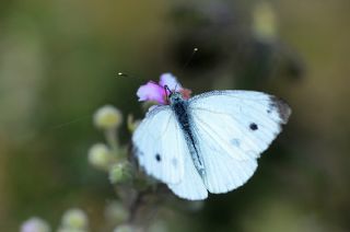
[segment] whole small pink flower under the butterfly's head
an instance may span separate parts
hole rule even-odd
[[[167,85],[171,91],[182,93],[183,97],[186,100],[190,97],[191,91],[184,89],[180,83],[177,82],[175,76],[172,73],[163,73],[159,83],[149,81],[147,84],[139,88],[137,92],[139,101],[151,101],[161,105],[168,104],[167,94],[170,93],[165,90],[165,85]]]

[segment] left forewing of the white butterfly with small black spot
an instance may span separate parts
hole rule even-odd
[[[177,184],[184,177],[186,142],[170,106],[151,109],[132,135],[140,166],[153,177]]]

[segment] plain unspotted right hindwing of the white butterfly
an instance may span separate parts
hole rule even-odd
[[[235,130],[231,131],[234,128],[224,125],[234,121],[211,114],[196,112],[192,118],[198,150],[205,165],[202,181],[210,193],[220,194],[243,185],[254,174],[257,160],[226,139],[225,136],[233,135]]]

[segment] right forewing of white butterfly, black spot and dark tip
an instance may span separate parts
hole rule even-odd
[[[258,158],[290,115],[281,100],[254,91],[212,91],[192,97],[189,106],[198,132],[238,160]]]

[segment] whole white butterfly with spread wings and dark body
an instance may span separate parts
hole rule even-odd
[[[178,197],[199,200],[242,186],[288,121],[290,107],[254,91],[212,91],[189,100],[171,92],[132,136],[145,172]]]

